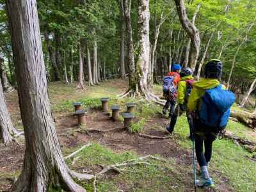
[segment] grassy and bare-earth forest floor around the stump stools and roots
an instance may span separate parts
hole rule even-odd
[[[175,134],[166,140],[143,138],[136,132],[153,136],[168,136],[165,126],[168,117],[161,115],[161,108],[143,100],[118,99],[116,95],[127,88],[127,82],[120,79],[106,81],[99,86],[77,90],[76,84],[66,85],[60,82],[49,84],[49,97],[52,112],[56,118],[56,131],[63,156],[71,154],[86,143],[92,146],[84,148],[76,156],[67,159],[68,166],[80,173],[98,173],[102,167],[116,163],[125,163],[152,155],[157,159],[143,159],[143,164],[120,167],[120,173],[108,172],[97,178],[98,191],[193,191],[193,166],[191,141],[188,140],[188,123],[180,116]],[[161,86],[155,86],[154,92],[161,95]],[[15,127],[22,129],[17,92],[6,94]],[[109,115],[100,110],[100,97],[110,97],[109,106],[118,104],[125,111],[126,102],[137,102],[130,132],[122,129],[122,118],[113,122]],[[88,109],[86,125],[77,127],[77,119],[72,116],[72,102],[83,102]],[[87,132],[86,129],[107,130],[110,132]],[[256,141],[256,132],[244,125],[230,121],[228,131]],[[8,147],[0,145],[0,191],[7,191],[12,180],[19,176],[24,157],[24,141],[20,145],[12,143]],[[256,161],[244,148],[230,140],[216,140],[210,164],[210,173],[215,188],[202,188],[198,191],[255,191]],[[132,161],[138,163],[138,161]],[[88,191],[93,191],[93,180],[78,181]]]

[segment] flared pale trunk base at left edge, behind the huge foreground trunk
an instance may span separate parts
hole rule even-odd
[[[0,81],[0,140],[2,140],[5,145],[8,145],[10,141],[13,140],[13,135],[17,134],[17,132],[10,118]]]

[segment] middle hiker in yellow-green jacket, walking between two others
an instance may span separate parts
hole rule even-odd
[[[189,138],[191,139],[193,136],[192,132],[192,120],[191,116],[187,112],[187,103],[188,103],[188,98],[191,93],[193,84],[195,83],[195,80],[192,76],[192,70],[189,67],[182,68],[180,71],[180,82],[178,86],[178,100],[177,100],[177,107],[175,108],[175,112],[173,113],[171,117],[171,122],[168,124],[166,127],[166,130],[172,134],[175,124],[177,122],[177,118],[179,115],[182,115],[182,113],[186,112],[187,118],[188,118],[188,123],[189,123]]]

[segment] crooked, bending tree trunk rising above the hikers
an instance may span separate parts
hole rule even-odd
[[[196,28],[195,24],[193,24],[193,22],[190,22],[190,20],[188,19],[184,0],[175,0],[175,4],[179,15],[180,23],[182,24],[182,27],[186,30],[188,36],[191,39],[191,49],[189,51],[189,67],[191,67],[194,72],[200,51],[200,33]],[[201,4],[198,5],[199,8],[200,6]],[[197,8],[197,10],[199,10],[199,8]]]

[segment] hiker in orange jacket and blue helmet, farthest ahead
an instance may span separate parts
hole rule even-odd
[[[166,115],[168,108],[170,108],[169,115],[175,111],[176,102],[177,102],[177,86],[180,81],[180,72],[181,66],[179,63],[173,65],[173,72],[168,72],[167,76],[164,77],[163,83],[163,94],[166,103],[163,108],[163,114]]]

